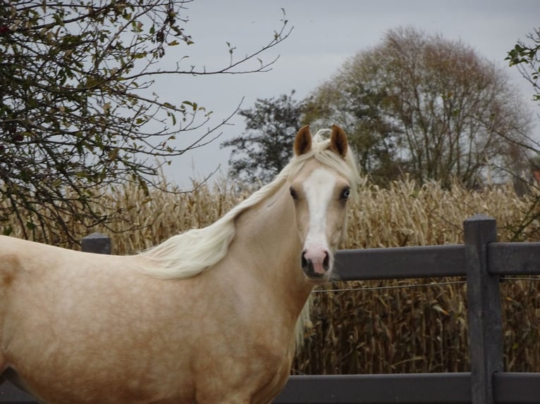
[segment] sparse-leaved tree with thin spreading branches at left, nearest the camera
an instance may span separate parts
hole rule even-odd
[[[288,37],[287,20],[261,49],[215,70],[164,70],[171,47],[183,56],[190,0],[47,2],[0,6],[0,224],[27,237],[73,239],[66,224],[88,226],[118,217],[99,196],[111,184],[158,185],[162,163],[217,136],[195,101],[171,103],[152,93],[156,77],[262,72],[262,53]],[[251,61],[259,61],[256,65]],[[233,111],[234,112],[234,111]],[[190,136],[187,148],[175,139]],[[176,143],[178,144],[178,143]],[[161,158],[157,163],[156,158]],[[48,241],[58,241],[48,240]]]

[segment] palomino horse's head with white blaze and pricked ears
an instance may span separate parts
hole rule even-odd
[[[346,208],[357,170],[345,132],[333,125],[330,139],[312,138],[309,126],[295,139],[295,158],[305,159],[290,179],[296,225],[302,243],[300,264],[307,282],[331,279],[333,255],[346,231]]]

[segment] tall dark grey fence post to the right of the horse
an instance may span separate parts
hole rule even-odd
[[[473,404],[493,404],[493,374],[503,372],[503,326],[499,276],[488,271],[487,245],[497,241],[493,217],[463,222],[467,272],[467,317]]]

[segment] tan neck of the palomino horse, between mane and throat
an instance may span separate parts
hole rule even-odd
[[[313,287],[300,268],[302,243],[289,186],[283,184],[276,194],[238,217],[234,244],[243,251],[245,267],[268,282],[297,316]]]

